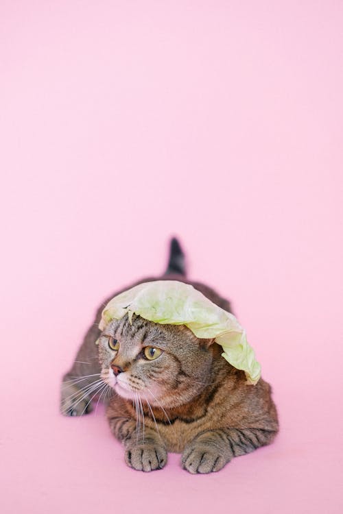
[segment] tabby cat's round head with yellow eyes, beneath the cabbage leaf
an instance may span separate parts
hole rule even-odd
[[[153,406],[185,404],[209,382],[212,343],[185,326],[113,319],[99,338],[102,379],[130,400],[139,393]]]

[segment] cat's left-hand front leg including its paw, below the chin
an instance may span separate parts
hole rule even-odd
[[[138,471],[150,472],[162,469],[167,463],[167,448],[161,437],[145,427],[137,432],[135,419],[127,417],[108,417],[113,435],[123,443],[126,464]]]

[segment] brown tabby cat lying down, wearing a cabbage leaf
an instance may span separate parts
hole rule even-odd
[[[187,280],[176,238],[165,274],[138,283],[152,280],[191,284],[232,312],[230,302],[213,289]],[[102,333],[103,308],[63,378],[60,408],[64,415],[82,415],[91,411],[93,398],[106,397],[110,430],[123,443],[128,466],[162,469],[167,452],[177,452],[191,474],[211,473],[272,442],[279,423],[270,385],[262,378],[246,384],[244,371],[222,358],[214,339],[137,315],[131,322],[128,315],[113,319]]]

